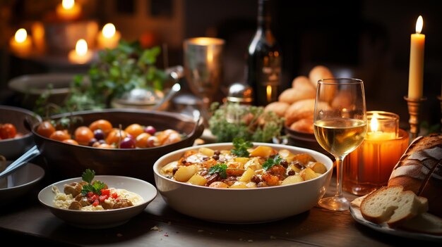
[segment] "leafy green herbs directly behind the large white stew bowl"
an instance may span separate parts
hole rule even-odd
[[[235,137],[246,141],[268,142],[280,137],[284,118],[264,111],[262,106],[244,106],[239,103],[213,103],[209,128],[217,141],[233,141]]]

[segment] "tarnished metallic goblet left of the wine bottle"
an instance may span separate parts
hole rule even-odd
[[[201,97],[201,114],[207,123],[210,103],[222,82],[222,50],[225,41],[196,37],[184,41],[184,74],[193,94]]]

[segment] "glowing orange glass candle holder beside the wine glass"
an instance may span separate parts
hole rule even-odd
[[[387,185],[410,139],[399,128],[395,113],[367,111],[367,123],[364,141],[345,158],[343,167],[343,189],[358,196]]]

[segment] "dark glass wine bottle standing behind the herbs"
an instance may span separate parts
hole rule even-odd
[[[247,83],[256,106],[277,101],[280,91],[282,54],[270,27],[270,4],[270,0],[258,0],[258,28],[247,54]]]

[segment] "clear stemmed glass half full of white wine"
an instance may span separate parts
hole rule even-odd
[[[328,210],[347,210],[350,202],[342,196],[342,162],[364,141],[366,106],[364,82],[354,78],[319,80],[313,115],[318,143],[336,160],[336,194],[318,204]]]

